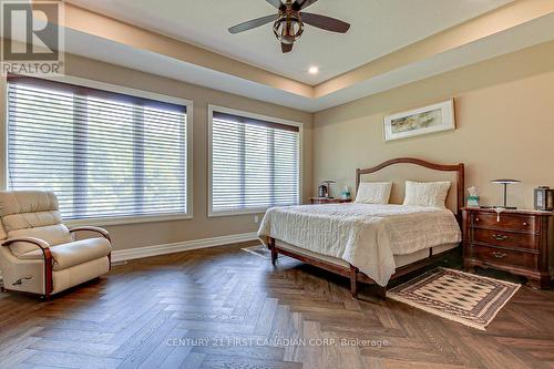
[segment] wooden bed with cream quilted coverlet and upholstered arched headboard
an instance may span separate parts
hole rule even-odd
[[[325,204],[276,207],[258,236],[271,250],[350,278],[375,284],[383,297],[390,280],[444,259],[461,244],[464,165],[443,165],[401,157],[356,171],[361,182],[393,183],[390,205]],[[404,182],[449,181],[444,209],[404,206]]]

